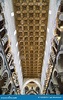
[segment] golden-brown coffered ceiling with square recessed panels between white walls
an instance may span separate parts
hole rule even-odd
[[[40,78],[49,0],[13,0],[17,41],[24,78]]]

